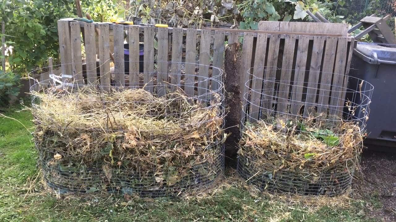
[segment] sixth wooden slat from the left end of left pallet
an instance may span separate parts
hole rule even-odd
[[[129,25],[129,88],[139,87],[139,26]]]

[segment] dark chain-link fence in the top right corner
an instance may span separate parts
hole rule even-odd
[[[390,27],[395,28],[396,0],[345,0],[345,19],[350,24],[359,23],[360,19],[376,13],[379,17],[390,15]]]

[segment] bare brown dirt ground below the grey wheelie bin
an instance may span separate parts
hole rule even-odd
[[[362,199],[378,198],[380,207],[367,206],[366,215],[382,219],[384,222],[396,221],[396,154],[386,152],[363,152],[363,180],[355,181],[355,194]],[[382,206],[381,206],[382,205]]]

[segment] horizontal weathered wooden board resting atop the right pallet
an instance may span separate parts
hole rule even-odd
[[[348,36],[348,24],[260,21],[259,30],[274,32],[305,32],[319,34],[341,34]]]

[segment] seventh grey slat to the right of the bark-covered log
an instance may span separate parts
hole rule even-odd
[[[326,48],[322,64],[322,77],[320,80],[318,107],[319,113],[327,113],[330,96],[331,79],[333,77],[334,56],[336,52],[337,37],[326,38]]]

